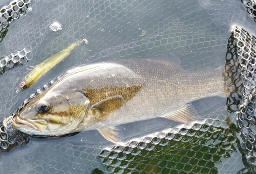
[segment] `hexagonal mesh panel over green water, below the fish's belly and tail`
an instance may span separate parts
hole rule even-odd
[[[212,119],[109,147],[100,158],[115,173],[218,173],[216,164],[237,150],[236,126],[225,117],[218,112]],[[236,171],[230,166],[237,162],[227,160],[222,172]]]

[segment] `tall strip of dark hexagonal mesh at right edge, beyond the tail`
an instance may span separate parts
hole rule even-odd
[[[237,39],[238,55],[242,66],[243,97],[239,106],[238,126],[241,129],[241,144],[246,159],[253,172],[256,172],[256,117],[255,117],[255,58],[256,38],[240,27],[233,29]]]

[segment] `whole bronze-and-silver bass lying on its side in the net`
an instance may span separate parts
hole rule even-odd
[[[14,118],[13,127],[39,137],[98,130],[118,143],[118,126],[124,123],[156,117],[181,123],[197,119],[191,102],[227,97],[224,71],[224,66],[184,70],[160,58],[75,67],[29,102]]]

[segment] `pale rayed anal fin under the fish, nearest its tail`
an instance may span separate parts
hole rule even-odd
[[[191,106],[191,104],[184,105],[179,110],[176,110],[175,112],[164,116],[164,118],[171,119],[174,121],[187,123],[189,121],[194,121],[198,117],[197,111]]]

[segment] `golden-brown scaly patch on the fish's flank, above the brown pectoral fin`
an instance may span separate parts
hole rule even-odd
[[[94,88],[94,89],[82,89],[86,96],[89,98],[90,103],[96,104],[99,101],[104,100],[105,98],[112,96],[122,96],[124,102],[131,100],[143,87],[143,84],[122,87],[122,86],[105,86],[103,88]]]

